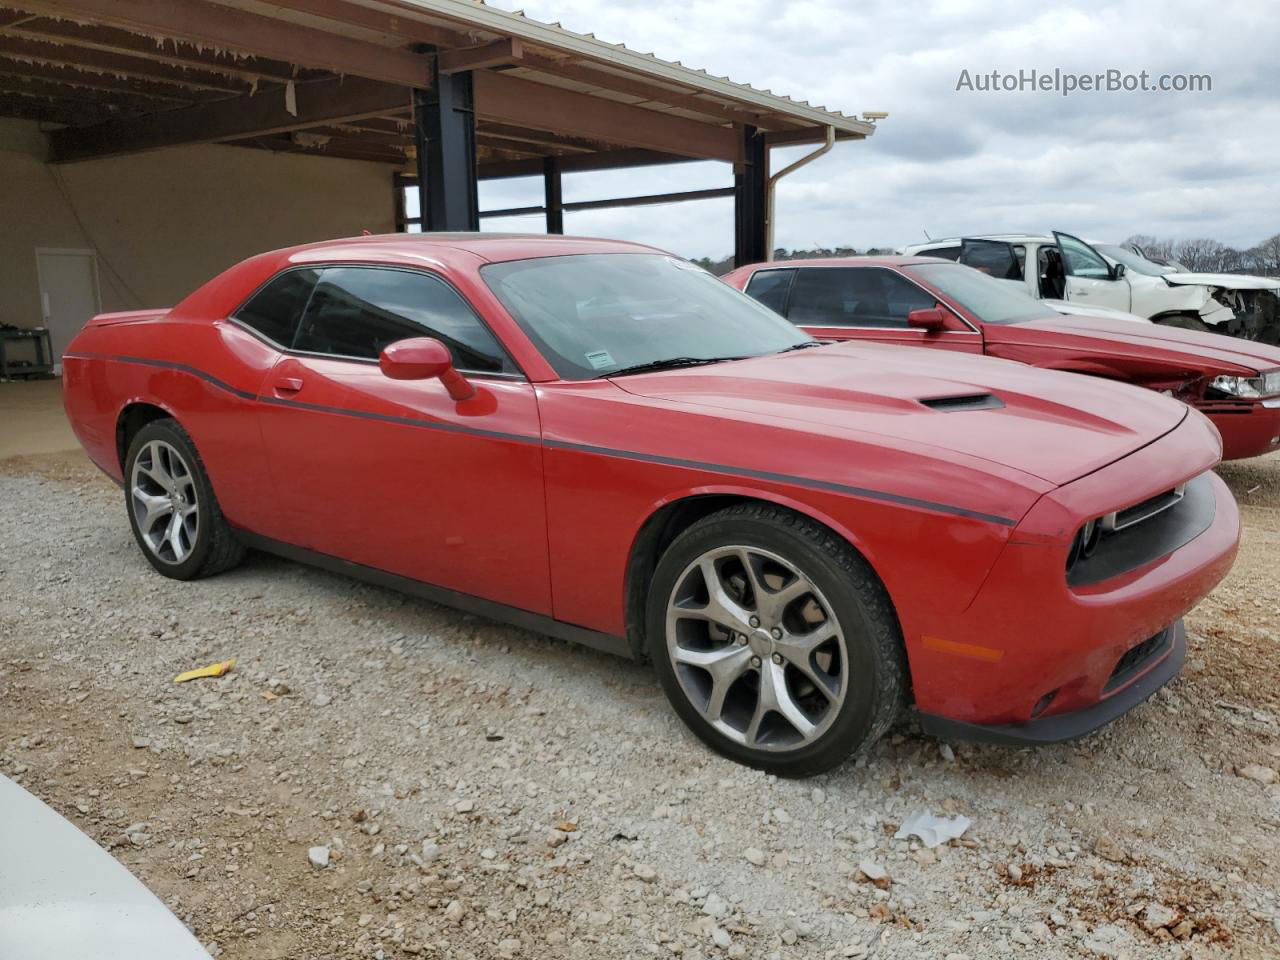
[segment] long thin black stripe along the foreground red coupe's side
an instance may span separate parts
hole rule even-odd
[[[230,384],[223,383],[216,376],[206,374],[204,370],[197,370],[196,367],[187,366],[186,364],[173,364],[165,360],[148,360],[143,357],[116,357],[104,353],[68,353],[67,357],[76,360],[115,360],[122,364],[138,364],[141,366],[154,366],[164,370],[177,370],[179,372],[191,374],[197,376],[214,387],[227,390],[236,397],[248,401],[259,401],[261,403],[270,403],[279,407],[293,407],[297,410],[306,410],[315,413],[329,413],[333,416],[349,416],[358,417],[361,420],[376,420],[388,424],[399,424],[402,426],[416,426],[426,430],[443,430],[445,433],[466,434],[467,436],[483,436],[490,440],[507,440],[512,443],[527,443],[527,444],[541,444],[549,449],[570,451],[573,453],[588,453],[598,457],[614,457],[618,460],[632,460],[643,463],[658,463],[668,467],[680,467],[684,470],[700,470],[710,474],[728,474],[731,476],[745,476],[753,480],[767,480],[776,484],[787,484],[791,486],[805,486],[810,490],[826,490],[828,493],[841,493],[850,497],[858,497],[865,500],[879,500],[882,503],[895,503],[902,507],[913,507],[915,509],[927,509],[936,513],[948,513],[955,517],[968,517],[970,520],[980,520],[986,524],[996,524],[997,526],[1016,526],[1018,521],[1009,517],[1000,517],[993,513],[982,513],[980,511],[966,509],[965,507],[954,507],[948,503],[934,503],[933,500],[922,500],[915,497],[904,497],[896,493],[886,493],[884,490],[870,490],[865,486],[850,486],[849,484],[837,484],[827,480],[812,480],[804,476],[792,476],[790,474],[774,474],[767,470],[751,470],[749,467],[732,467],[723,463],[707,463],[696,460],[680,460],[677,457],[662,457],[654,453],[639,453],[635,451],[620,451],[612,449],[609,447],[591,447],[581,443],[566,443],[563,440],[545,440],[538,436],[525,436],[522,434],[504,434],[497,433],[494,430],[479,430],[471,426],[460,426],[457,424],[442,424],[429,420],[419,420],[415,417],[397,417],[387,413],[367,413],[360,410],[347,410],[344,407],[325,407],[319,403],[303,403],[302,401],[283,399],[279,397],[260,397],[255,393],[237,389]]]

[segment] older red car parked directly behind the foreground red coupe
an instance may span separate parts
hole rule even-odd
[[[1222,435],[1224,460],[1280,449],[1280,347],[1140,317],[1062,316],[937,257],[790,260],[724,280],[822,342],[937,347],[1121,380],[1204,413]]]

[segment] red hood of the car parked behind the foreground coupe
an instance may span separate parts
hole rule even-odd
[[[1244,367],[1254,372],[1275,370],[1280,367],[1280,347],[1271,347],[1266,343],[1245,340],[1238,337],[1224,337],[1220,333],[1202,333],[1199,330],[1183,330],[1176,326],[1164,324],[1151,324],[1135,326],[1124,320],[1107,320],[1096,316],[1064,316],[1048,320],[1029,320],[1023,324],[1009,324],[1007,326],[988,325],[984,333],[988,340],[1016,342],[1021,332],[1037,330],[1043,333],[1064,334],[1071,337],[1088,337],[1093,340],[1103,340],[1121,347],[1126,355],[1146,351],[1160,351],[1165,356],[1179,353],[1188,358],[1194,367],[1206,364],[1221,364],[1233,367]],[[1224,371],[1225,372],[1225,371]]]

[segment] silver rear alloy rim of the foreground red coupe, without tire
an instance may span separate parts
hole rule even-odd
[[[191,557],[200,532],[196,479],[178,449],[151,440],[133,460],[129,477],[133,520],[147,549],[164,563]]]

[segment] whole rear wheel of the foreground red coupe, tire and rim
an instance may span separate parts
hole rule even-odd
[[[196,445],[177,420],[154,420],[133,436],[124,495],[133,538],[166,577],[210,576],[243,558]]]

